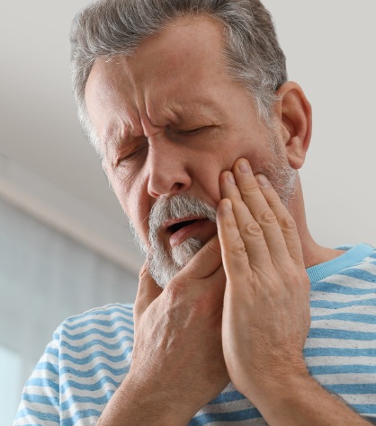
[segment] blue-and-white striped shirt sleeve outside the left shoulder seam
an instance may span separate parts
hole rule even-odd
[[[13,426],[60,424],[58,351],[59,330],[46,347],[22,391]]]

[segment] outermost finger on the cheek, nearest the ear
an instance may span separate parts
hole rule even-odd
[[[274,215],[277,218],[291,259],[301,264],[303,262],[303,253],[295,220],[291,217],[289,211],[283,206],[279,195],[273,189],[273,186],[268,181],[266,176],[264,176],[264,174],[258,173],[255,175],[255,178],[259,185],[260,191],[262,191],[264,195],[264,199],[268,203],[269,207],[273,210]]]

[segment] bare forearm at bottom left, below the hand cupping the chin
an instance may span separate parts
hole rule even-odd
[[[103,410],[97,426],[186,426],[192,416],[184,413],[184,406],[175,404],[166,402],[161,389],[142,388],[126,377]]]

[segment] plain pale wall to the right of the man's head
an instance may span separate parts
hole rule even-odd
[[[301,171],[318,243],[376,244],[376,2],[264,0],[291,80],[313,107]]]

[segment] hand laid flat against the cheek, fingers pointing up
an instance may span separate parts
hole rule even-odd
[[[234,386],[262,411],[288,375],[308,374],[302,350],[310,314],[295,222],[267,179],[257,178],[265,185],[242,159],[222,173],[217,222],[227,277],[224,358]]]

